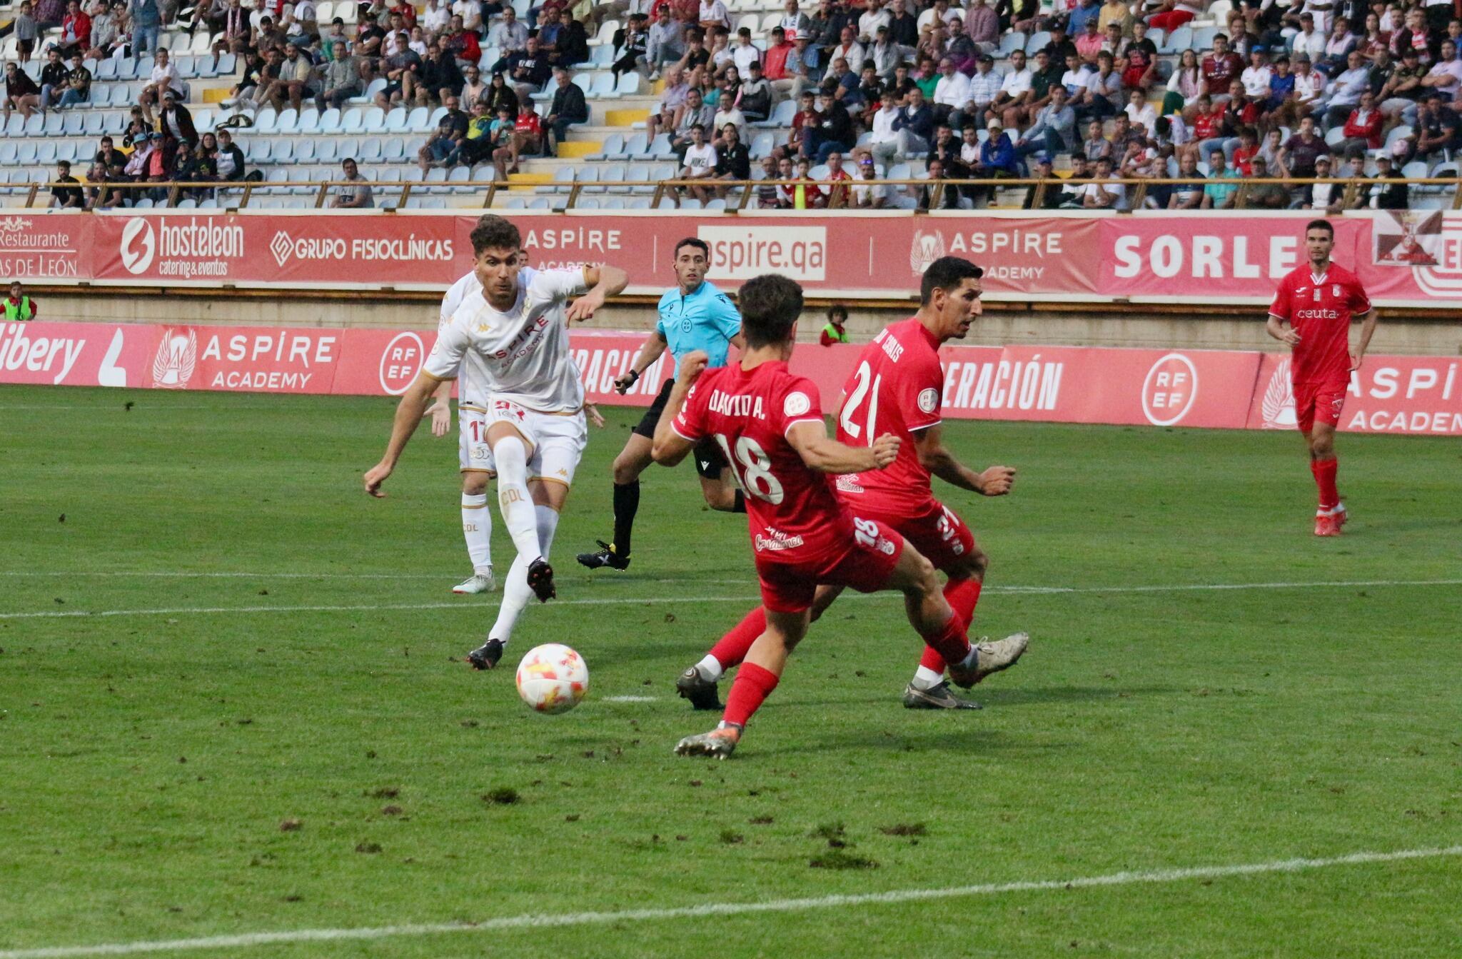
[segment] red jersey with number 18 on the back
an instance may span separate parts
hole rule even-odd
[[[756,561],[816,564],[846,553],[852,516],[832,477],[807,468],[787,441],[795,422],[822,422],[817,386],[785,363],[706,370],[671,424],[681,437],[712,437],[746,490]]]

